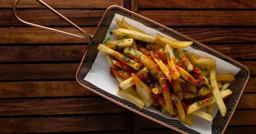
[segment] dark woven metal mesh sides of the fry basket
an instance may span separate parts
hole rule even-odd
[[[152,118],[154,118],[158,121],[161,121],[161,122],[165,123],[166,125],[168,125],[170,127],[177,128],[177,129],[182,130],[186,133],[193,133],[193,134],[194,133],[199,133],[195,130],[192,130],[190,128],[185,127],[179,120],[166,119],[166,118],[164,118],[164,117],[162,117],[158,114],[155,114],[153,112],[150,112],[146,109],[140,109],[136,105],[132,104],[131,102],[129,102],[127,100],[124,100],[120,97],[117,97],[115,95],[112,95],[112,94],[94,86],[90,82],[84,80],[84,77],[87,75],[87,73],[91,69],[92,64],[93,64],[94,60],[96,59],[96,56],[99,52],[97,50],[97,47],[100,43],[103,42],[103,40],[105,38],[105,35],[107,33],[107,30],[108,30],[108,28],[110,26],[110,23],[111,23],[112,19],[114,18],[115,14],[120,14],[122,16],[133,19],[137,22],[140,22],[140,23],[146,25],[147,27],[151,27],[153,29],[156,29],[159,32],[164,33],[164,34],[166,34],[170,37],[173,37],[177,40],[189,41],[188,38],[183,37],[182,35],[176,34],[173,31],[171,31],[169,29],[166,29],[166,28],[164,28],[160,25],[152,23],[152,22],[148,21],[147,19],[144,19],[144,18],[142,18],[140,16],[137,16],[135,14],[132,14],[132,13],[126,12],[121,8],[112,7],[111,9],[106,11],[105,16],[103,16],[102,22],[99,24],[99,27],[98,27],[97,31],[95,31],[95,34],[93,35],[93,39],[90,42],[90,45],[89,45],[87,54],[84,58],[83,64],[82,64],[82,66],[80,67],[80,69],[78,71],[78,81],[81,84],[91,88],[92,90],[95,90],[95,91],[99,92],[100,94],[102,94],[106,97],[111,98],[114,101],[117,101],[117,102],[119,102],[119,103],[121,103],[121,104],[123,104],[127,107],[130,107],[130,108],[132,108],[132,109],[134,109],[138,112],[141,112],[142,114],[144,114],[146,116],[149,116],[149,117],[152,117]],[[245,83],[247,81],[249,72],[245,67],[237,64],[236,62],[234,62],[232,60],[229,60],[228,58],[226,58],[222,55],[219,55],[218,53],[215,53],[214,51],[206,48],[205,46],[203,46],[201,44],[194,43],[193,45],[191,45],[191,47],[194,48],[194,49],[197,49],[197,50],[204,51],[208,54],[211,54],[211,55],[213,55],[217,58],[220,58],[220,59],[222,59],[222,60],[224,60],[224,61],[226,61],[226,62],[228,62],[228,63],[230,63],[230,64],[232,64],[232,65],[241,69],[241,71],[239,71],[239,73],[236,75],[236,80],[233,81],[230,85],[230,90],[232,90],[233,94],[224,100],[224,102],[227,106],[227,115],[225,117],[222,117],[220,115],[220,112],[218,112],[216,117],[213,120],[212,133],[213,134],[221,134],[223,132],[224,127],[227,125],[228,120],[230,119],[230,116],[232,114],[232,111],[234,110],[234,107],[238,103],[238,98],[239,98],[239,96],[241,96],[241,92],[242,92],[243,87],[245,86]]]

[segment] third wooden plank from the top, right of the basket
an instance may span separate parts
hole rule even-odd
[[[255,42],[256,28],[173,28],[199,42]]]

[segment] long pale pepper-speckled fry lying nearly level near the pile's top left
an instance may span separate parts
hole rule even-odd
[[[118,29],[113,30],[112,32],[113,32],[113,34],[115,34],[119,37],[126,36],[126,38],[138,39],[138,40],[142,40],[144,42],[150,42],[150,43],[155,43],[155,41],[156,41],[156,38],[151,35],[136,32],[136,31],[129,30],[129,29],[118,28]]]

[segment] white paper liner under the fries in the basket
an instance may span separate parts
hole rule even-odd
[[[119,26],[116,24],[115,22],[115,18],[118,18],[118,19],[122,19],[124,16],[121,16],[119,14],[115,14],[114,16],[114,19],[112,20],[112,23],[110,24],[110,29],[117,29],[119,28]],[[133,25],[134,27],[137,27],[141,30],[143,30],[144,32],[156,37],[156,33],[159,33],[165,37],[169,37],[163,33],[160,33],[158,32],[157,30],[155,29],[152,29],[152,28],[149,28],[149,27],[146,27],[145,25],[139,23],[139,22],[136,22],[132,19],[129,19],[129,18],[126,18],[125,17],[125,20],[127,23]],[[110,41],[114,41],[114,40],[118,40],[118,37],[114,34],[110,35],[110,33],[107,33],[106,34],[106,37],[105,38],[111,38]],[[171,37],[169,37],[171,38]],[[193,52],[195,54],[198,54],[200,55],[201,57],[210,57],[210,58],[213,58],[215,59],[217,62],[216,62],[216,65],[217,65],[217,73],[218,74],[237,74],[241,69],[219,59],[219,58],[216,58],[210,54],[207,54],[203,51],[199,51],[199,50],[195,50],[193,49],[192,47],[187,47],[187,48],[184,48],[184,50],[187,50],[189,52]],[[119,86],[119,82],[116,78],[113,78],[110,76],[109,74],[109,68],[110,68],[110,65],[105,57],[105,53],[99,51],[93,65],[92,65],[92,69],[89,71],[89,73],[86,75],[86,77],[84,78],[84,80],[87,80],[89,81],[90,83],[92,83],[93,85],[109,92],[110,94],[113,94],[115,96],[118,96],[116,94],[116,89],[118,88]],[[120,97],[120,96],[119,96]],[[122,98],[122,97],[120,97]],[[146,108],[147,110],[149,111],[152,111],[156,114],[159,114],[165,118],[168,118],[168,119],[177,119],[178,118],[173,118],[172,116],[170,116],[169,114],[163,114],[162,111],[158,111],[154,108]],[[202,110],[205,110],[205,109],[202,109]],[[212,117],[214,118],[216,116],[218,112],[218,108],[215,107],[214,110],[212,111]],[[203,133],[203,134],[211,134],[211,125],[212,125],[212,121],[207,121],[205,119],[202,119],[202,118],[199,118],[197,116],[194,116],[193,115],[193,125],[192,126],[188,126],[187,124],[183,123],[183,125],[185,125],[186,127],[188,128],[191,128],[195,131],[198,131],[199,133]]]

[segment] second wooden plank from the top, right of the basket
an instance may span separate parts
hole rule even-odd
[[[138,11],[138,14],[166,26],[256,25],[256,11]]]

